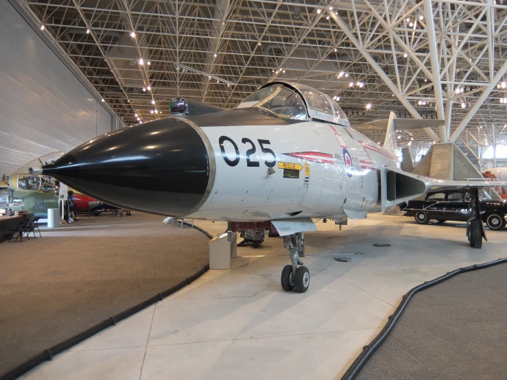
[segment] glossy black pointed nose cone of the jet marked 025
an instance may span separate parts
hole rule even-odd
[[[123,128],[76,147],[43,166],[43,174],[103,202],[185,216],[209,193],[210,156],[201,135],[172,118]]]

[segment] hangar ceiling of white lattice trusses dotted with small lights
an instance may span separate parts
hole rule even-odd
[[[414,144],[507,140],[503,0],[10,1],[126,125],[165,117],[176,96],[233,108],[279,79],[340,97],[353,124],[446,116]]]

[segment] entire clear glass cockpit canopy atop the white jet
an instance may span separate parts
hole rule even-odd
[[[237,108],[257,107],[276,117],[314,120],[349,127],[349,120],[333,99],[304,84],[271,82],[244,99]]]

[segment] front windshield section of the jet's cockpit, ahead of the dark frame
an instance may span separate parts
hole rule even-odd
[[[256,107],[268,111],[276,117],[295,120],[308,120],[303,99],[289,88],[280,84],[262,88],[244,99],[237,108]]]

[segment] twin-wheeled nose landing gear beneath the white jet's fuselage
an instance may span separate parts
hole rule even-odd
[[[305,233],[284,236],[283,246],[289,252],[292,260],[292,265],[285,265],[282,270],[281,283],[283,290],[290,292],[296,289],[298,293],[305,293],[310,285],[310,272],[299,259],[305,257]]]

